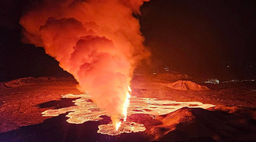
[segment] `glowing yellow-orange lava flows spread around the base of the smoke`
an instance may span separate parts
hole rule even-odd
[[[129,94],[130,96],[130,94]],[[60,109],[49,109],[44,111],[43,116],[58,116],[69,112],[67,117],[68,123],[84,123],[86,121],[99,121],[103,118],[100,116],[110,116],[104,109],[99,108],[94,102],[92,102],[91,97],[85,93],[80,95],[67,94],[63,95],[63,98],[78,98],[75,102],[76,106]],[[129,104],[129,103],[128,103]],[[191,107],[193,105],[194,107]],[[157,100],[156,98],[138,98],[136,96],[130,96],[130,105],[127,107],[127,116],[133,114],[148,114],[151,116],[158,116],[168,114],[182,107],[190,108],[210,108],[214,107],[211,104],[203,104],[198,101],[192,102],[176,102],[169,100]],[[119,116],[117,122],[113,122],[105,125],[100,125],[98,133],[108,134],[108,135],[118,135],[121,133],[139,132],[145,131],[143,124],[138,124],[134,122],[123,121],[127,116]]]

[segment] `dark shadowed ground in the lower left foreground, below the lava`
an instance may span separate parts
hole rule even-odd
[[[67,123],[66,114],[46,119],[43,123],[23,126],[0,133],[1,142],[140,142],[148,141],[140,133],[122,133],[117,136],[97,133],[98,126],[111,122],[109,117],[83,124]]]

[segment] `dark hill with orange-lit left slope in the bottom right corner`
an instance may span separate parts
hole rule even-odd
[[[228,108],[229,113],[219,111]],[[217,110],[216,110],[217,109]],[[244,113],[234,112],[240,109]],[[256,140],[256,120],[253,108],[232,108],[219,106],[218,108],[180,108],[172,113],[157,116],[160,125],[149,131],[157,140],[184,141],[190,138],[208,137],[216,141],[254,141]]]

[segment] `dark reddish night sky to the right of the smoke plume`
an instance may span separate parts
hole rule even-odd
[[[141,12],[153,63],[197,77],[256,73],[255,1],[152,0]]]

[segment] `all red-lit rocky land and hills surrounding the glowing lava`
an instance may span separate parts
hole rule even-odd
[[[199,101],[216,107],[203,109],[190,105],[195,108],[184,107],[160,116],[133,114],[127,121],[144,124],[146,130],[117,136],[97,133],[99,125],[111,121],[108,116],[100,121],[82,124],[67,123],[67,114],[42,116],[41,113],[48,109],[74,106],[72,101],[76,98],[61,98],[61,95],[69,93],[81,94],[76,89],[74,78],[21,78],[10,82],[0,83],[1,142],[69,141],[74,138],[77,141],[88,139],[109,142],[256,140],[254,81],[208,86],[184,80],[166,82],[145,76],[134,77],[132,96],[180,102]],[[193,90],[195,88],[197,90]]]

